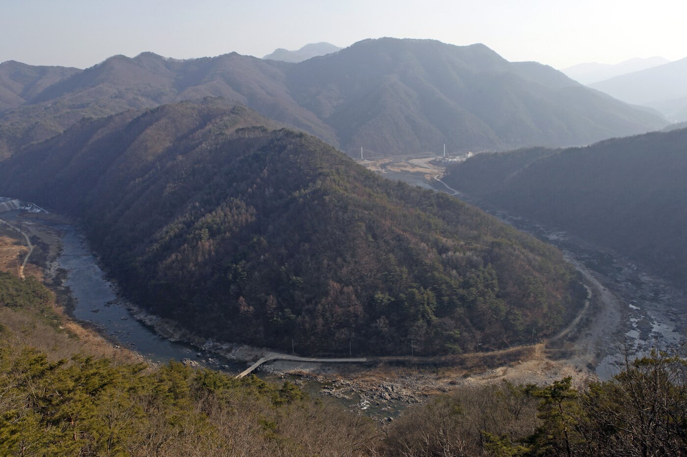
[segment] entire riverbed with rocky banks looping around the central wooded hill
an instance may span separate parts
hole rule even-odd
[[[382,176],[455,193],[437,179],[444,171],[442,161],[437,158],[384,159],[363,165]],[[623,269],[619,259],[576,244],[581,242],[572,241],[560,231],[546,231],[522,218],[495,214],[518,229],[563,249],[567,261],[592,287],[595,296],[587,302],[590,309],[585,307],[570,327],[561,331],[569,333],[560,338],[567,342],[554,344],[559,339],[554,336],[548,343],[502,352],[433,359],[376,357],[368,364],[354,367],[277,361],[265,365],[260,376],[265,379],[289,377],[314,395],[332,397],[352,410],[383,421],[386,417],[395,417],[409,404],[423,402],[427,397],[461,386],[493,383],[499,379],[546,384],[568,375],[578,383],[595,376],[608,379],[618,369],[615,364],[622,362],[620,342],[624,338],[633,354],[646,351],[646,343],[640,342],[651,342],[652,338],[662,347],[678,349],[679,331],[684,329],[681,327],[684,322],[679,313],[666,312],[667,308],[662,305],[666,299],[679,300],[682,296],[677,291],[669,290],[637,266]],[[4,213],[3,217],[7,215]],[[16,213],[10,216],[16,219]],[[239,373],[246,362],[253,362],[260,354],[273,353],[268,348],[199,338],[172,321],[133,306],[117,296],[117,286],[105,279],[85,236],[76,227],[49,220],[41,222],[35,215],[30,216],[27,220],[30,223],[25,224],[30,233],[32,230],[60,233],[59,237],[53,237],[60,243],[59,248],[51,249],[60,255],[48,270],[65,271],[64,285],[75,298],[71,313],[82,322],[93,323],[102,335],[115,342],[113,344],[141,353],[153,364],[173,359],[232,374]],[[41,225],[43,229],[39,229]],[[631,296],[641,297],[641,303],[630,303]]]

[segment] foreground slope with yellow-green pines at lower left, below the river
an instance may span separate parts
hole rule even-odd
[[[3,456],[363,456],[373,445],[371,421],[294,384],[150,366],[57,309],[34,277],[0,270]]]

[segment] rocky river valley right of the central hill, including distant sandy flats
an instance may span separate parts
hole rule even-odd
[[[600,379],[618,373],[629,357],[652,348],[687,355],[687,294],[669,281],[650,274],[636,261],[611,253],[555,227],[548,228],[505,211],[479,198],[456,191],[438,178],[446,168],[440,157],[405,161],[383,159],[362,164],[382,176],[405,180],[420,187],[456,194],[520,231],[537,236],[563,250],[597,294],[590,316],[583,318],[574,346],[561,362],[589,370]]]

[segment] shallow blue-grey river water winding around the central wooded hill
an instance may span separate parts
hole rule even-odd
[[[417,178],[417,176],[412,177]],[[394,178],[403,178],[403,176],[394,176]],[[424,187],[431,186],[425,182]],[[440,183],[435,189],[447,190],[442,188]],[[2,198],[0,198],[1,201],[3,201]],[[488,208],[483,209],[488,210]],[[3,212],[1,217],[10,222],[16,222],[16,215],[19,212],[20,210]],[[685,355],[684,343],[687,341],[685,332],[687,327],[684,310],[687,301],[683,292],[651,277],[627,261],[572,241],[564,232],[547,230],[506,213],[495,213],[495,215],[517,229],[532,233],[564,250],[567,255],[583,263],[589,270],[593,270],[596,276],[602,279],[602,283],[612,289],[622,301],[624,312],[622,323],[619,323],[620,332],[616,331],[613,336],[609,335],[607,338],[609,343],[599,348],[596,373],[601,379],[608,379],[618,372],[617,366],[622,361],[622,354],[618,347],[622,342],[627,343],[635,355],[646,353],[653,344],[659,344],[664,349],[674,349]],[[229,360],[191,344],[174,342],[159,336],[153,327],[137,320],[122,305],[122,301],[117,299],[115,287],[98,266],[98,260],[91,253],[85,236],[78,228],[44,223],[53,226],[63,234],[63,251],[58,258],[58,264],[60,268],[67,270],[65,285],[70,288],[71,294],[76,299],[73,311],[76,318],[97,325],[102,333],[113,338],[117,344],[141,353],[153,363],[190,359],[201,366],[230,374],[237,374],[245,369],[245,362]],[[256,374],[270,380],[283,379],[265,372]],[[290,377],[290,379],[294,378]],[[297,379],[294,380],[297,381]],[[322,388],[326,387],[318,382],[299,384],[311,395],[318,395],[322,392]],[[356,396],[355,392],[350,392],[349,399],[338,399],[338,401],[349,408],[364,410],[366,414],[376,417],[395,416],[404,407],[399,403],[393,405],[392,410],[378,410],[379,408],[374,406],[370,408],[364,400],[359,401]]]

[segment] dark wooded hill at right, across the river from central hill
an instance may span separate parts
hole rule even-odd
[[[687,129],[587,148],[479,154],[445,180],[687,284]]]

